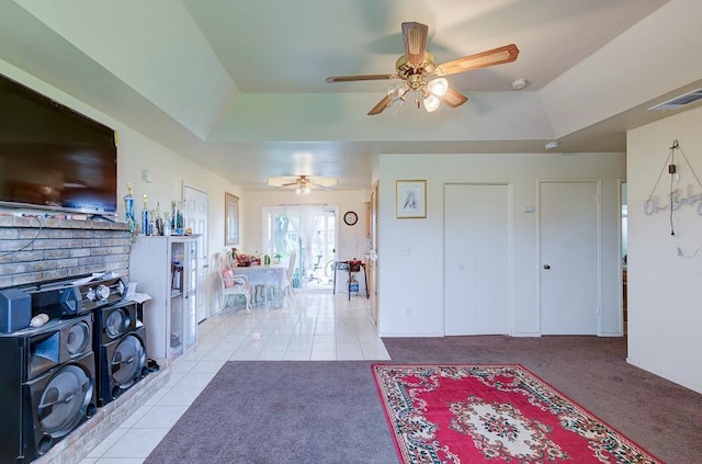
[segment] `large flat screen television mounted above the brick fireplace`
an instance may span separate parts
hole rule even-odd
[[[0,206],[114,216],[114,131],[0,75]]]

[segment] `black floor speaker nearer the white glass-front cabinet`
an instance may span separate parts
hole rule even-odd
[[[124,302],[95,309],[98,406],[116,399],[148,374],[141,305]]]

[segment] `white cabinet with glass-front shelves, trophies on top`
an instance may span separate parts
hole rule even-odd
[[[129,256],[129,282],[151,299],[144,304],[149,358],[173,360],[197,342],[197,237],[138,236]]]

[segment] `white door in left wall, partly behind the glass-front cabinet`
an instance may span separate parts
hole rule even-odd
[[[193,234],[200,235],[197,240],[197,322],[207,318],[207,275],[210,264],[207,257],[207,192],[190,185],[183,185],[183,199],[185,200],[185,227]]]

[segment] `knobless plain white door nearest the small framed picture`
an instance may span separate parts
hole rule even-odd
[[[509,333],[509,185],[444,186],[444,333]]]

